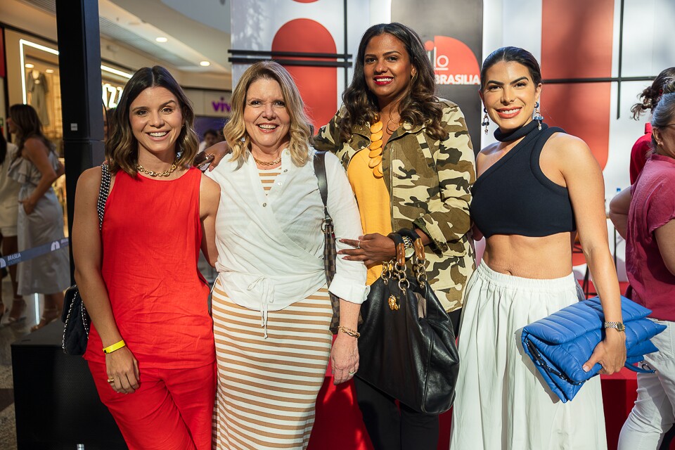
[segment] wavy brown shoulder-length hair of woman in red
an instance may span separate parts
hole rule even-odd
[[[176,96],[184,127],[176,139],[176,155],[180,154],[176,166],[186,167],[192,164],[199,149],[199,139],[195,133],[195,112],[192,103],[185,95],[181,86],[176,82],[168,70],[159,65],[153,68],[140,68],[124,86],[120,103],[115,109],[112,130],[108,129],[108,141],[105,142],[105,159],[108,160],[110,171],[123,170],[131,176],[136,176],[136,164],[139,161],[139,141],[134,137],[134,131],[129,122],[129,108],[141,92],[149,87],[163,87]]]

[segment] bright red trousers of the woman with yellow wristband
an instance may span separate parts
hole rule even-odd
[[[120,394],[105,364],[89,361],[98,395],[113,414],[129,450],[210,450],[216,364],[198,368],[140,368],[140,387]]]

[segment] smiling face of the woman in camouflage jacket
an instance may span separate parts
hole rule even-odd
[[[389,33],[373,37],[364,54],[364,77],[380,108],[401,101],[417,70],[400,39]]]

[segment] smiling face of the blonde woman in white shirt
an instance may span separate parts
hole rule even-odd
[[[244,122],[252,152],[276,156],[288,145],[290,115],[275,79],[259,78],[248,86]]]

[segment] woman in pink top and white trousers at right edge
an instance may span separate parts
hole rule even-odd
[[[632,188],[632,200],[628,188],[610,207],[617,230],[625,231],[633,300],[667,329],[653,338],[659,351],[645,356],[656,373],[638,374],[638,399],[621,430],[619,450],[655,450],[675,422],[675,82],[664,86],[652,127],[654,153]]]

